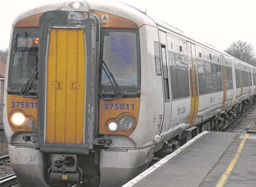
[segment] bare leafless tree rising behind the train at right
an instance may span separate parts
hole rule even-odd
[[[225,50],[228,54],[247,62],[253,66],[256,66],[255,51],[252,44],[246,41],[234,41],[229,48]]]

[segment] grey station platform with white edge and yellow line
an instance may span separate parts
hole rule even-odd
[[[123,187],[255,187],[256,135],[204,131]]]

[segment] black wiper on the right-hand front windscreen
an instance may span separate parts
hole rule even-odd
[[[99,94],[100,96],[104,99],[104,100],[108,100],[108,101],[111,101],[111,100],[117,100],[117,99],[120,99],[123,94],[124,94],[124,91],[123,89],[121,88],[121,86],[116,82],[115,78],[114,78],[114,75],[109,71],[109,68],[108,66],[106,65],[106,63],[103,61],[103,60],[100,60],[100,65],[102,66],[102,69],[104,70],[106,76],[108,77],[113,89],[114,89],[114,92],[115,92],[115,95],[119,95],[120,96],[118,98],[104,98],[101,94],[101,92],[99,91]]]

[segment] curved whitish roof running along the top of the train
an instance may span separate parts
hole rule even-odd
[[[254,67],[246,62],[243,62],[233,56],[231,56],[230,54],[223,52],[209,44],[206,43],[201,43],[187,35],[185,35],[183,32],[181,32],[179,29],[172,27],[171,25],[167,24],[166,22],[163,21],[159,21],[153,18],[153,16],[149,16],[146,13],[140,11],[139,9],[122,3],[122,2],[118,2],[118,1],[114,1],[114,0],[108,0],[108,1],[95,1],[95,0],[76,0],[78,2],[82,2],[83,6],[81,8],[77,8],[74,10],[70,9],[70,7],[68,7],[68,10],[71,11],[89,11],[89,10],[97,10],[97,11],[102,11],[102,12],[107,12],[107,13],[111,13],[111,14],[115,14],[118,15],[120,17],[132,20],[133,22],[135,22],[139,27],[142,25],[152,25],[152,26],[157,26],[158,28],[163,28],[165,30],[168,30],[172,33],[175,33],[176,35],[178,35],[178,37],[182,37],[186,40],[192,41],[197,45],[201,45],[204,48],[208,48],[209,50],[212,50],[214,52],[217,52],[219,54],[222,54],[226,57],[232,57],[233,59],[239,61],[240,63],[243,63],[247,66],[251,66]],[[62,2],[58,2],[58,3],[52,3],[52,4],[47,4],[47,5],[42,5],[39,7],[35,7],[31,10],[28,10],[22,14],[19,14],[13,21],[13,26],[21,19],[35,15],[35,14],[39,14],[39,13],[43,13],[43,12],[47,12],[47,11],[53,11],[53,10],[67,10],[67,6],[69,3],[71,3],[72,1],[62,1]],[[75,1],[74,1],[75,2]],[[255,67],[254,67],[255,68]]]

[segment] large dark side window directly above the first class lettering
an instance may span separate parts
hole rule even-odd
[[[169,52],[172,99],[190,96],[187,57]]]

